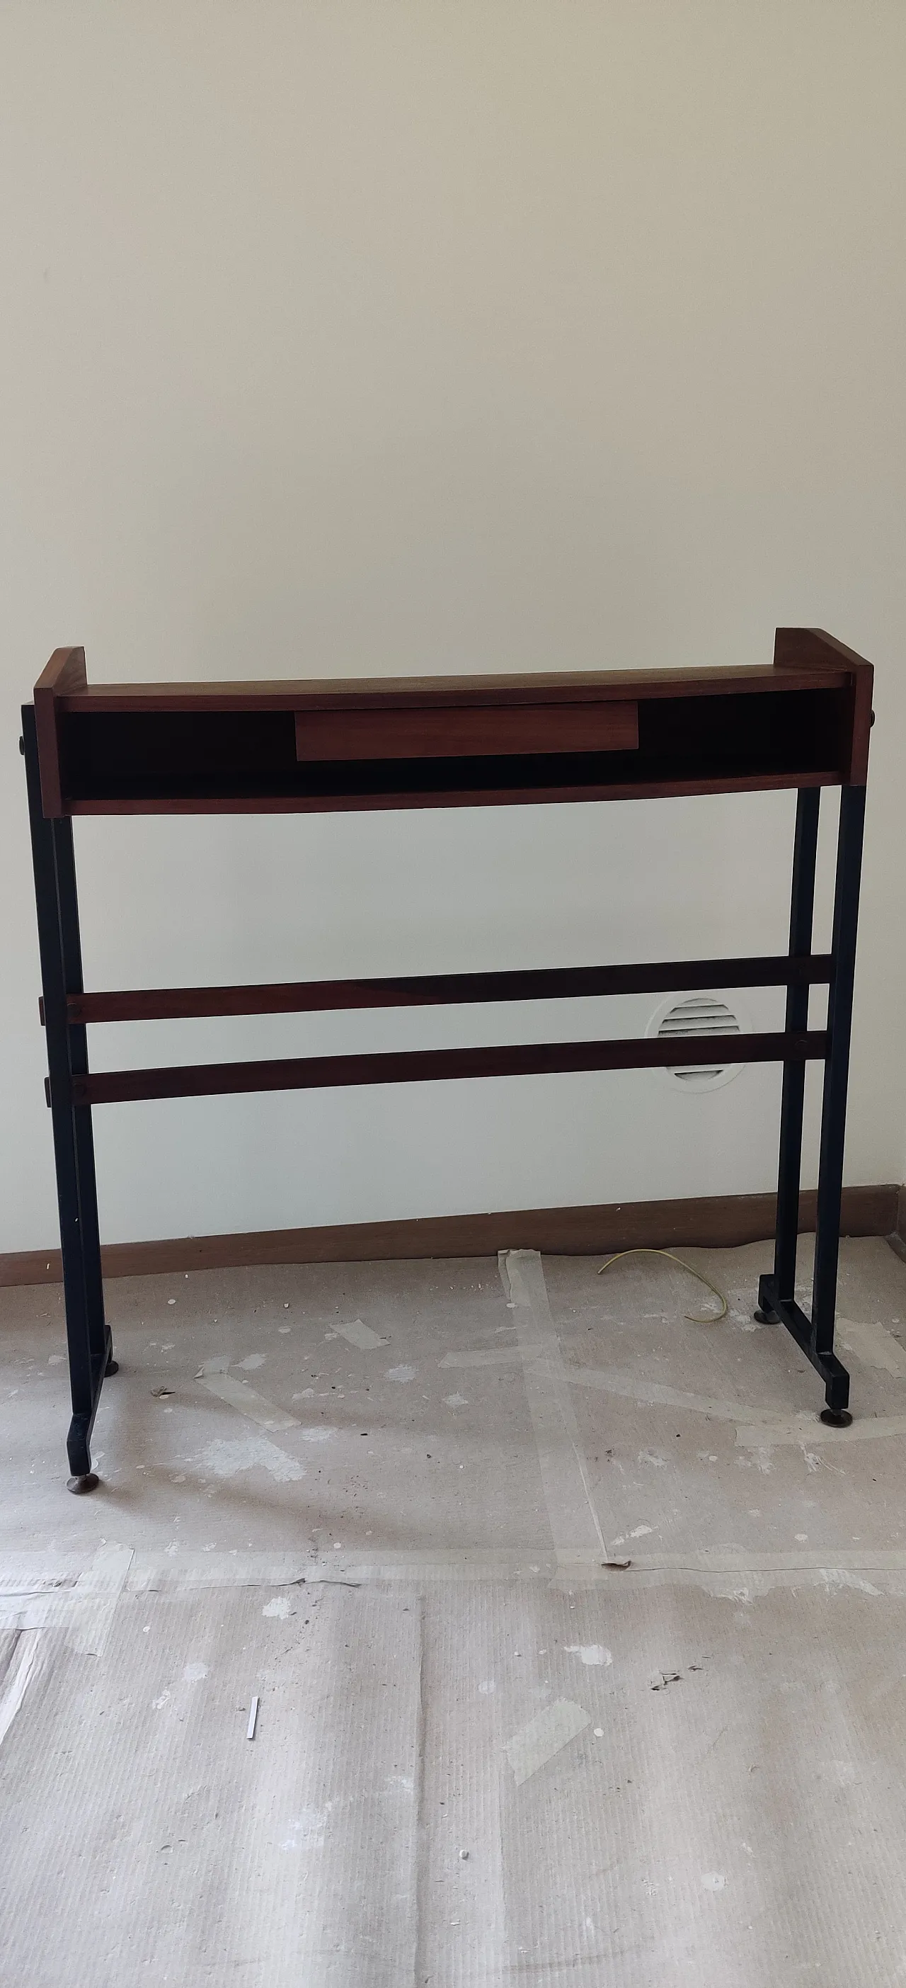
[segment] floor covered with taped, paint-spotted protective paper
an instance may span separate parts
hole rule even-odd
[[[906,1264],[687,1260],[111,1282],[81,1499],[0,1292],[4,1984],[906,1982]]]

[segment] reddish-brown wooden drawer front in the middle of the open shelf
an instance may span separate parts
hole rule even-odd
[[[465,759],[636,751],[638,704],[296,712],[296,759]]]

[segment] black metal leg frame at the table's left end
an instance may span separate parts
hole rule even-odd
[[[42,958],[48,1089],[64,1260],[66,1338],[70,1348],[72,1489],[93,1489],[91,1427],[105,1372],[115,1372],[103,1318],[101,1244],[93,1165],[91,1109],[72,1103],[72,1077],[87,1070],[83,1028],[72,1028],[66,996],[81,992],[79,912],[72,823],[46,821],[40,795],[34,710],[22,712],[22,740],[32,825],[32,861]]]

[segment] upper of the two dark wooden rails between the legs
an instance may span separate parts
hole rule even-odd
[[[580,1000],[670,994],[674,988],[829,986],[830,952],[751,960],[644,960],[638,966],[550,966],[489,974],[403,974],[383,980],[284,980],[238,988],[147,988],[70,994],[70,1022],[183,1022],[215,1014],[318,1014],[340,1008],[443,1008],[461,1002]],[[38,1002],[44,1022],[44,1000]]]

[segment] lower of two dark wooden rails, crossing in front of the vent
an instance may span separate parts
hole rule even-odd
[[[435,1083],[447,1077],[525,1077],[568,1070],[670,1070],[674,1064],[803,1064],[825,1058],[827,1030],[769,1036],[670,1036],[626,1042],[528,1042],[487,1050],[399,1050],[372,1056],[290,1056],[278,1062],[175,1064],[99,1070],[72,1077],[74,1105],[149,1097],[221,1097],[234,1091],[316,1091],[354,1083]],[[46,1083],[50,1105],[50,1081]]]

